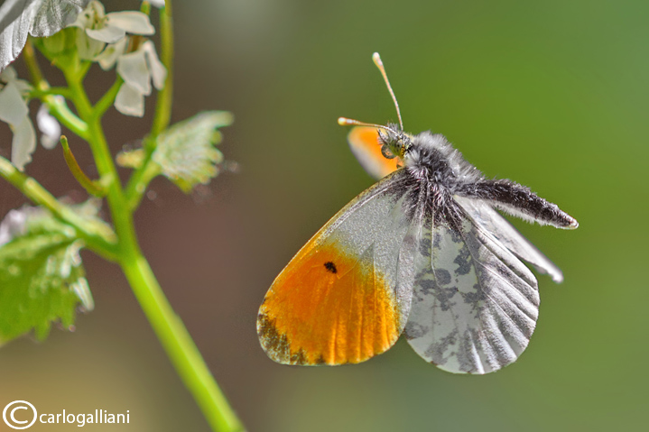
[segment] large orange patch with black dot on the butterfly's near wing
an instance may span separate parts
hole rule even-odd
[[[310,242],[311,244],[312,242]],[[279,363],[359,363],[399,337],[394,294],[370,260],[307,244],[274,281],[257,332]],[[370,262],[367,262],[370,261]]]

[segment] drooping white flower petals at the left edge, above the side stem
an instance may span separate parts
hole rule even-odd
[[[0,90],[0,120],[9,124],[14,133],[11,161],[18,170],[23,170],[32,161],[32,152],[36,150],[36,133],[29,118],[29,108],[21,94],[30,86],[23,79],[17,79],[11,67],[0,74],[0,81],[5,83]]]

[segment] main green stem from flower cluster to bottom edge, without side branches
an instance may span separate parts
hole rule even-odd
[[[171,1],[167,0],[167,5],[170,4]],[[171,31],[171,23],[167,31]],[[162,37],[171,38],[171,35]],[[176,371],[198,402],[210,427],[219,432],[243,431],[241,422],[218,388],[217,382],[209,372],[207,364],[181,319],[175,315],[171,305],[164,297],[153,271],[140,251],[134,231],[133,207],[129,206],[129,200],[125,196],[117,176],[116,165],[107,145],[100,116],[97,116],[95,112],[97,106],[95,108],[91,106],[88,95],[81,84],[81,77],[85,70],[64,69],[63,73],[68,81],[70,98],[77,108],[79,117],[88,124],[88,143],[97,163],[97,171],[102,178],[102,184],[107,186],[108,207],[110,207],[119,239],[118,262],[134,290],[135,297],[172,360]],[[165,100],[166,102],[162,103],[162,108],[159,106],[159,109],[169,109],[171,112],[171,106],[164,108],[165,104],[171,105],[171,97],[165,98]],[[156,118],[158,117],[159,115],[156,114]],[[154,140],[152,141],[154,144]],[[142,169],[145,172],[147,167],[143,166]],[[143,179],[146,178],[144,173],[143,176]]]

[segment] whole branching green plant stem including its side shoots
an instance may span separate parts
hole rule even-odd
[[[115,101],[116,94],[122,84],[121,78],[117,78],[115,84],[107,90],[107,93],[99,99],[95,106],[92,106],[82,84],[91,63],[88,61],[79,62],[76,52],[74,53],[76,57],[72,60],[66,61],[65,64],[61,62],[58,65],[63,71],[68,88],[59,89],[56,95],[47,81],[42,78],[41,70],[38,68],[34,57],[31,41],[28,42],[29,46],[25,47],[24,58],[32,74],[32,82],[35,87],[34,96],[40,97],[62,124],[89,143],[97,164],[97,171],[102,184],[107,190],[107,204],[115,226],[115,234],[113,235],[117,238],[117,244],[108,244],[108,246],[112,247],[110,249],[112,253],[107,253],[105,256],[111,261],[119,262],[121,265],[127,280],[131,284],[134,295],[149,319],[153,330],[160,339],[185,386],[198,402],[210,427],[220,432],[240,432],[243,431],[243,425],[236,417],[226,397],[218,388],[217,382],[209,372],[207,364],[201,357],[189,332],[182,324],[180,317],[175,315],[168,300],[164,297],[149,263],[146,262],[144,255],[140,251],[134,231],[134,208],[139,204],[149,181],[159,173],[159,167],[153,161],[157,138],[160,133],[167,129],[171,120],[173,90],[172,0],[166,0],[166,6],[160,10],[160,21],[161,60],[167,69],[167,77],[163,89],[158,93],[151,133],[144,142],[143,164],[134,171],[126,189],[122,188],[117,176],[116,164],[101,124],[101,117]],[[136,46],[139,41],[141,40],[133,39],[133,46]],[[61,100],[59,94],[68,97],[74,104],[78,115],[70,112],[70,108],[64,100]],[[64,149],[68,153],[69,149],[66,149],[65,145]],[[22,173],[15,170],[11,163],[4,161],[6,163],[2,163],[3,160],[0,160],[0,175],[23,190],[25,195],[30,198],[33,197],[32,199],[35,201],[51,208],[51,211],[62,219],[66,221],[70,219],[71,222],[69,223],[72,226],[77,227],[83,222],[77,220],[79,216],[76,214],[69,215],[70,212],[66,211],[65,207],[61,207],[60,203],[51,197],[49,192],[40,187],[38,183],[32,180],[37,188],[34,187]],[[69,164],[71,167],[76,165],[71,158],[71,153]],[[73,172],[75,170],[76,168],[73,169]],[[82,184],[94,183],[81,170],[79,170],[78,174],[81,175],[81,179],[78,179]],[[88,243],[90,241],[97,242],[102,247],[104,247],[104,243],[107,243],[103,237],[97,236],[95,238],[93,233],[86,234],[80,228],[78,229],[82,238],[85,238],[84,235],[88,236]]]

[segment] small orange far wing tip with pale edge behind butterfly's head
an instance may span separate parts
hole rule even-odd
[[[363,168],[376,179],[382,179],[396,170],[398,158],[386,159],[381,153],[378,131],[375,127],[357,126],[348,134],[349,147]]]

